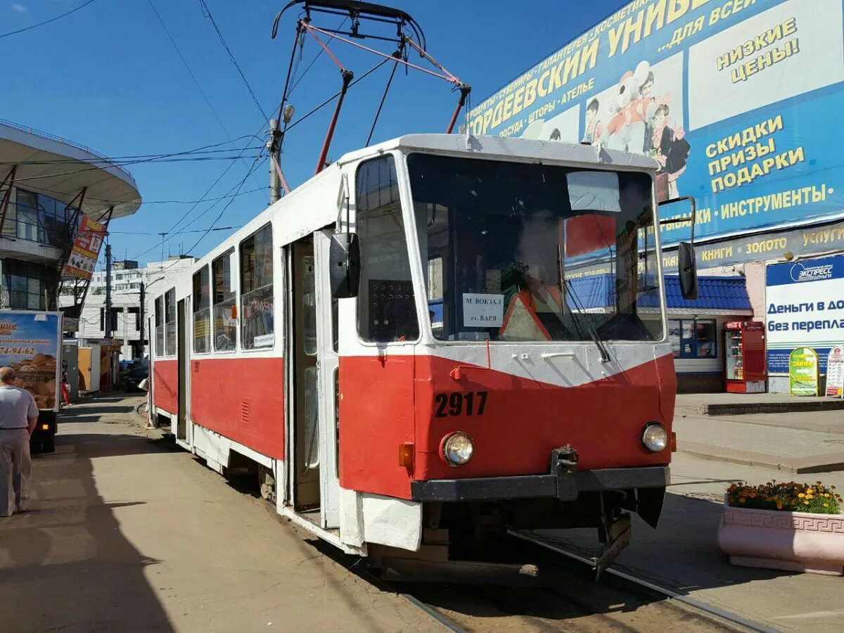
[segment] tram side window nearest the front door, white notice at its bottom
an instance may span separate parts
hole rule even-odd
[[[273,347],[273,227],[241,241],[241,345]]]

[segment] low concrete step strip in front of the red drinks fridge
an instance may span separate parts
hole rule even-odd
[[[678,393],[678,415],[782,414],[844,411],[842,398],[789,396],[787,393]]]

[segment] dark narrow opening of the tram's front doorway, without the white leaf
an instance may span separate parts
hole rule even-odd
[[[319,388],[317,381],[317,279],[310,236],[291,248],[290,347],[293,402],[289,430],[290,496],[296,511],[320,508]],[[317,519],[317,515],[312,517]]]

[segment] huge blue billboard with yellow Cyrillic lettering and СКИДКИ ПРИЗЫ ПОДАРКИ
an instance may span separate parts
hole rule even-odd
[[[711,241],[844,217],[842,106],[841,0],[635,0],[468,125],[647,154],[657,195],[694,196],[695,239]],[[689,225],[662,231],[672,244]]]

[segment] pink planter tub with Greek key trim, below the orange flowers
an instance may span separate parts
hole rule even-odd
[[[844,515],[724,506],[718,545],[733,565],[844,576]]]

